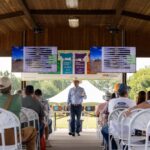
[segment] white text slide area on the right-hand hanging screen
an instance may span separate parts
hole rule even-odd
[[[133,73],[135,71],[135,47],[102,47],[102,72]]]

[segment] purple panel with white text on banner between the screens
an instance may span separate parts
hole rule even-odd
[[[75,74],[85,74],[85,56],[86,53],[75,54]]]

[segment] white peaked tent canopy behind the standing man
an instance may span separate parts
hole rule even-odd
[[[70,88],[72,88],[72,87],[73,87],[73,83],[71,85],[69,85],[66,89],[64,89],[62,92],[60,92],[59,94],[55,95],[52,98],[49,98],[48,101],[54,102],[54,103],[67,102],[68,93],[69,93]],[[105,102],[103,100],[104,92],[97,89],[89,81],[83,80],[82,83],[80,84],[80,87],[84,88],[86,95],[87,95],[87,99],[85,99],[83,101],[84,103],[90,103],[90,102],[103,103],[103,102]]]

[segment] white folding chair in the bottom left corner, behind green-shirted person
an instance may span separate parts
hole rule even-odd
[[[13,145],[8,146],[5,144],[5,130],[11,128],[14,129],[14,135],[12,136],[14,136],[15,143]],[[2,108],[0,108],[0,134],[1,134],[1,142],[2,142],[2,145],[0,146],[0,150],[21,150],[22,149],[20,121],[15,114]],[[19,139],[18,139],[18,135],[19,135]]]

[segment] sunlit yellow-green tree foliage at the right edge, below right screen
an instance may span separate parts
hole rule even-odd
[[[131,87],[130,98],[136,100],[139,91],[150,90],[150,67],[140,69],[128,79],[128,85]]]

